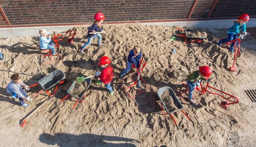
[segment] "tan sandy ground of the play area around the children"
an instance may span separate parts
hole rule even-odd
[[[154,35],[168,41],[176,29],[167,26],[106,25],[98,49],[97,40],[81,55],[78,50],[87,41],[87,26],[76,27],[73,44],[67,39],[60,41],[63,61],[54,64],[40,64],[45,75],[55,69],[66,74],[67,83],[60,86],[54,97],[28,119],[24,128],[20,120],[33,111],[48,96],[37,96],[31,106],[19,106],[18,100],[6,96],[10,76],[21,74],[24,83],[32,85],[41,79],[34,61],[39,62],[38,36],[10,37],[0,39],[0,51],[5,60],[0,61],[0,147],[255,147],[256,103],[251,102],[244,90],[255,89],[256,85],[256,28],[248,28],[251,35],[241,41],[241,56],[235,72],[232,66],[233,54],[226,47],[219,47],[219,38],[226,38],[226,30],[205,30],[207,39],[201,44],[184,44],[184,38],[169,42],[176,54],[167,45],[162,45]],[[143,78],[149,90],[131,99],[122,90],[118,74],[126,67],[128,52],[140,45],[148,58]],[[104,85],[96,85],[92,79],[84,102],[71,110],[76,99],[68,97],[58,107],[55,104],[67,95],[67,90],[78,75],[91,76],[96,73],[98,60],[102,56],[112,59],[114,79],[113,96]],[[200,95],[195,91],[196,105],[183,104],[182,112],[173,114],[179,130],[171,117],[161,115],[157,90],[169,86],[176,92],[187,75],[208,65],[213,69],[210,85],[237,96],[238,104],[227,109],[219,106],[223,101],[216,95]],[[29,96],[40,87],[30,88]],[[177,93],[176,93],[177,94]],[[177,95],[178,96],[178,95]],[[187,99],[185,99],[187,101]]]

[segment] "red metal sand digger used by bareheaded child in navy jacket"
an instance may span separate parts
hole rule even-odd
[[[140,66],[139,66],[139,67],[141,67],[143,60],[144,60],[144,57],[141,58],[141,60],[140,60]],[[146,62],[147,62],[147,59],[145,60],[143,66],[142,66],[142,68],[141,68],[141,70],[137,70],[137,71],[135,71],[135,72],[133,72],[133,73],[131,73],[131,74],[128,74],[128,76],[125,76],[125,77],[123,78],[123,79],[125,79],[125,78],[130,78],[130,79],[132,79],[133,84],[131,84],[131,85],[129,85],[129,86],[126,87],[125,84],[123,83],[124,80],[122,79],[122,87],[123,87],[123,89],[125,90],[125,92],[127,93],[127,95],[128,95],[130,98],[132,98],[132,99],[134,99],[135,97],[141,95],[142,93],[146,92],[146,90],[148,90],[148,85],[147,85],[146,81],[143,79],[143,77],[141,76],[141,74],[142,74],[142,72],[143,72],[143,69],[144,69],[144,67],[146,66]],[[135,66],[132,66],[132,68],[135,68]],[[138,69],[139,69],[139,68],[138,68]],[[139,93],[136,94],[136,92],[135,92],[135,95],[132,95],[132,94],[129,93],[128,89],[130,89],[131,87],[137,85],[137,80],[134,80],[134,79],[132,78],[132,75],[135,74],[135,73],[140,74],[140,79],[141,79],[141,81],[144,83],[144,85],[146,86],[146,88],[143,89],[143,90],[140,90],[140,88],[137,88],[137,87],[136,87],[136,89],[139,90]]]

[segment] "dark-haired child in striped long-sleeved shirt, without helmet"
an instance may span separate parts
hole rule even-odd
[[[25,90],[29,90],[29,86],[23,83],[19,74],[12,74],[11,80],[12,81],[6,88],[7,92],[13,98],[18,98],[22,107],[30,107],[30,105],[24,101],[24,98],[26,98],[27,101],[31,101],[33,98],[28,97],[27,93],[21,88],[21,86],[23,86]]]

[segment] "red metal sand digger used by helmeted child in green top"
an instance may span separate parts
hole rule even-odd
[[[202,83],[200,83],[201,89],[199,89],[198,87],[195,87],[195,89],[198,90],[198,91],[201,93],[201,95],[203,95],[203,94],[205,94],[206,92],[208,92],[208,93],[210,93],[210,94],[220,96],[221,98],[226,99],[227,101],[229,101],[229,102],[226,102],[226,101],[220,102],[219,105],[220,105],[221,107],[223,107],[223,108],[227,108],[228,105],[232,105],[232,104],[238,103],[239,100],[238,100],[238,98],[237,98],[236,96],[233,96],[233,95],[228,94],[228,93],[226,93],[226,92],[224,92],[224,91],[221,91],[221,90],[219,90],[219,89],[216,89],[216,88],[210,86],[209,83],[210,83],[210,82],[207,82],[207,85],[206,85],[205,88],[203,88]],[[184,87],[187,87],[187,85],[185,85],[185,82],[183,82],[183,85],[184,85]],[[225,96],[223,96],[223,95],[221,95],[221,94],[219,94],[219,93],[211,92],[211,91],[207,90],[208,87],[209,87],[209,88],[212,88],[213,90],[217,90],[217,91],[219,91],[220,93],[223,93],[223,94],[225,94],[225,95],[228,95],[228,97],[225,97]],[[182,93],[179,93],[179,96],[181,97],[181,99],[182,99],[183,102],[184,102],[184,99],[183,99],[183,97],[182,97],[181,95],[184,94],[184,93],[187,93],[188,91],[189,91],[189,90],[186,90],[186,91],[184,91],[184,92],[182,92]],[[193,96],[193,98],[194,98],[194,96]],[[235,100],[231,100],[231,98],[233,98],[233,99],[235,99]],[[188,104],[188,103],[186,103],[186,104]]]

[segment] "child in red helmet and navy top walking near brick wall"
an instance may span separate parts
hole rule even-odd
[[[88,40],[87,42],[85,43],[85,45],[83,45],[81,48],[80,48],[80,52],[81,54],[85,54],[84,50],[85,50],[85,47],[87,45],[90,45],[91,44],[91,40],[92,40],[92,37],[94,35],[96,35],[98,37],[98,48],[100,48],[103,44],[101,43],[101,34],[96,34],[96,32],[104,32],[105,31],[103,30],[102,28],[102,23],[105,19],[105,16],[103,13],[101,12],[98,12],[95,16],[94,16],[94,19],[96,20],[90,27],[88,27],[88,32],[87,32],[87,35],[88,35]],[[94,34],[89,34],[89,33],[94,33]]]

